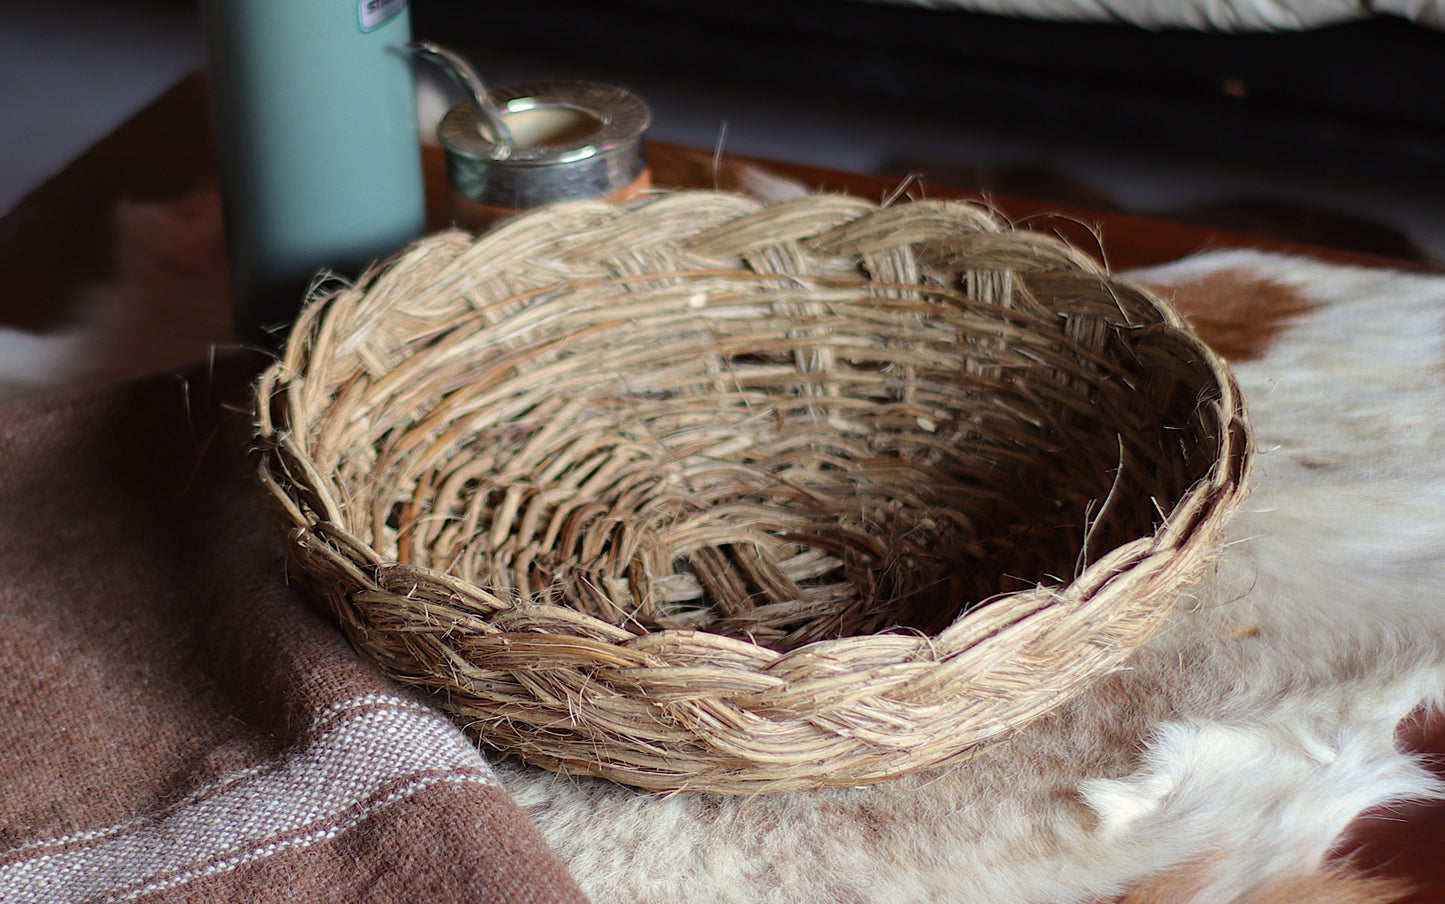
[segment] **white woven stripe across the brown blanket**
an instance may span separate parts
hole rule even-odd
[[[0,901],[134,900],[337,838],[438,783],[496,778],[436,712],[402,697],[345,700],[316,716],[301,749],[163,813],[0,853]]]

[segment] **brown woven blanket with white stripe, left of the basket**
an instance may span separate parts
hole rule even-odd
[[[286,585],[257,365],[0,406],[0,901],[581,901]]]

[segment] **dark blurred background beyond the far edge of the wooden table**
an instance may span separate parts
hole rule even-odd
[[[0,211],[204,65],[195,1],[4,0]],[[1445,32],[1149,32],[857,0],[412,0],[496,84],[659,140],[1445,260]]]

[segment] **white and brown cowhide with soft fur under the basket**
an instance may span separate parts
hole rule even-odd
[[[0,387],[224,336],[214,198],[118,225],[118,282],[69,332],[0,331]],[[1445,277],[1254,251],[1134,276],[1231,358],[1253,414],[1253,494],[1205,583],[1126,670],[958,767],[662,797],[496,764],[594,901],[1393,900],[1328,855],[1358,813],[1442,793],[1396,726],[1445,695]],[[114,341],[158,323],[168,348]]]

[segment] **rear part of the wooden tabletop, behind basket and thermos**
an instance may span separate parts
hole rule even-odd
[[[657,185],[709,185],[711,152],[652,143],[649,156]],[[772,160],[754,163],[818,191],[883,199],[900,185],[899,178],[842,173]],[[215,155],[205,79],[195,74],[142,108],[0,218],[0,323],[39,331],[69,318],[75,290],[104,279],[113,269],[110,211],[117,199],[168,201],[214,185]],[[441,209],[445,186],[436,153],[428,156],[428,191],[432,209]],[[977,196],[964,189],[928,182],[910,182],[903,194]],[[1367,266],[1423,266],[1366,251],[1090,209],[1048,198],[988,195],[984,199],[1009,220],[1033,230],[1056,232],[1113,269],[1163,263],[1195,251],[1225,247],[1293,251]]]

